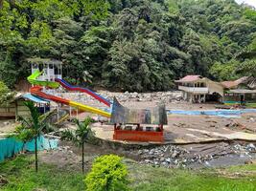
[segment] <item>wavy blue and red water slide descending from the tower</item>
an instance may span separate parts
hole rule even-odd
[[[72,85],[70,85],[68,82],[66,82],[63,79],[56,78],[55,81],[57,81],[62,87],[64,87],[65,89],[67,89],[69,91],[76,91],[76,92],[86,93],[86,94],[88,94],[90,96],[93,96],[94,98],[96,98],[100,102],[103,102],[108,107],[110,107],[110,105],[111,105],[111,103],[108,100],[106,100],[105,97],[100,96],[100,95],[92,92],[91,90],[89,90],[87,88],[81,88],[81,87],[78,87],[78,86],[72,86]]]

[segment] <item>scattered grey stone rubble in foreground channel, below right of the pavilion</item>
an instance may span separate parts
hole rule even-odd
[[[203,164],[210,166],[209,161],[222,156],[235,154],[250,157],[256,153],[256,146],[252,143],[241,145],[229,145],[227,143],[215,143],[205,145],[194,145],[189,148],[175,145],[164,145],[152,149],[138,150],[140,163],[164,167],[187,167],[192,164]]]

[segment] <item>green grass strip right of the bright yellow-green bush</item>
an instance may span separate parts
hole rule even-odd
[[[166,169],[133,165],[132,188],[138,191],[255,191],[256,165],[225,169]],[[240,173],[247,174],[241,177]],[[249,173],[252,172],[252,173]]]

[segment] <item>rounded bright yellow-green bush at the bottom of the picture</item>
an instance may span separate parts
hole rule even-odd
[[[128,169],[122,158],[106,155],[95,159],[84,180],[87,191],[128,190]]]

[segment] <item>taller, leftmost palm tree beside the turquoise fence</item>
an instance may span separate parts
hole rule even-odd
[[[37,108],[32,101],[24,103],[30,111],[30,117],[19,117],[21,122],[19,128],[16,129],[15,138],[19,138],[23,141],[35,140],[35,172],[38,171],[38,157],[37,157],[37,140],[43,133],[49,132],[49,124],[46,122],[48,115],[40,117]],[[50,114],[50,113],[49,113]]]

